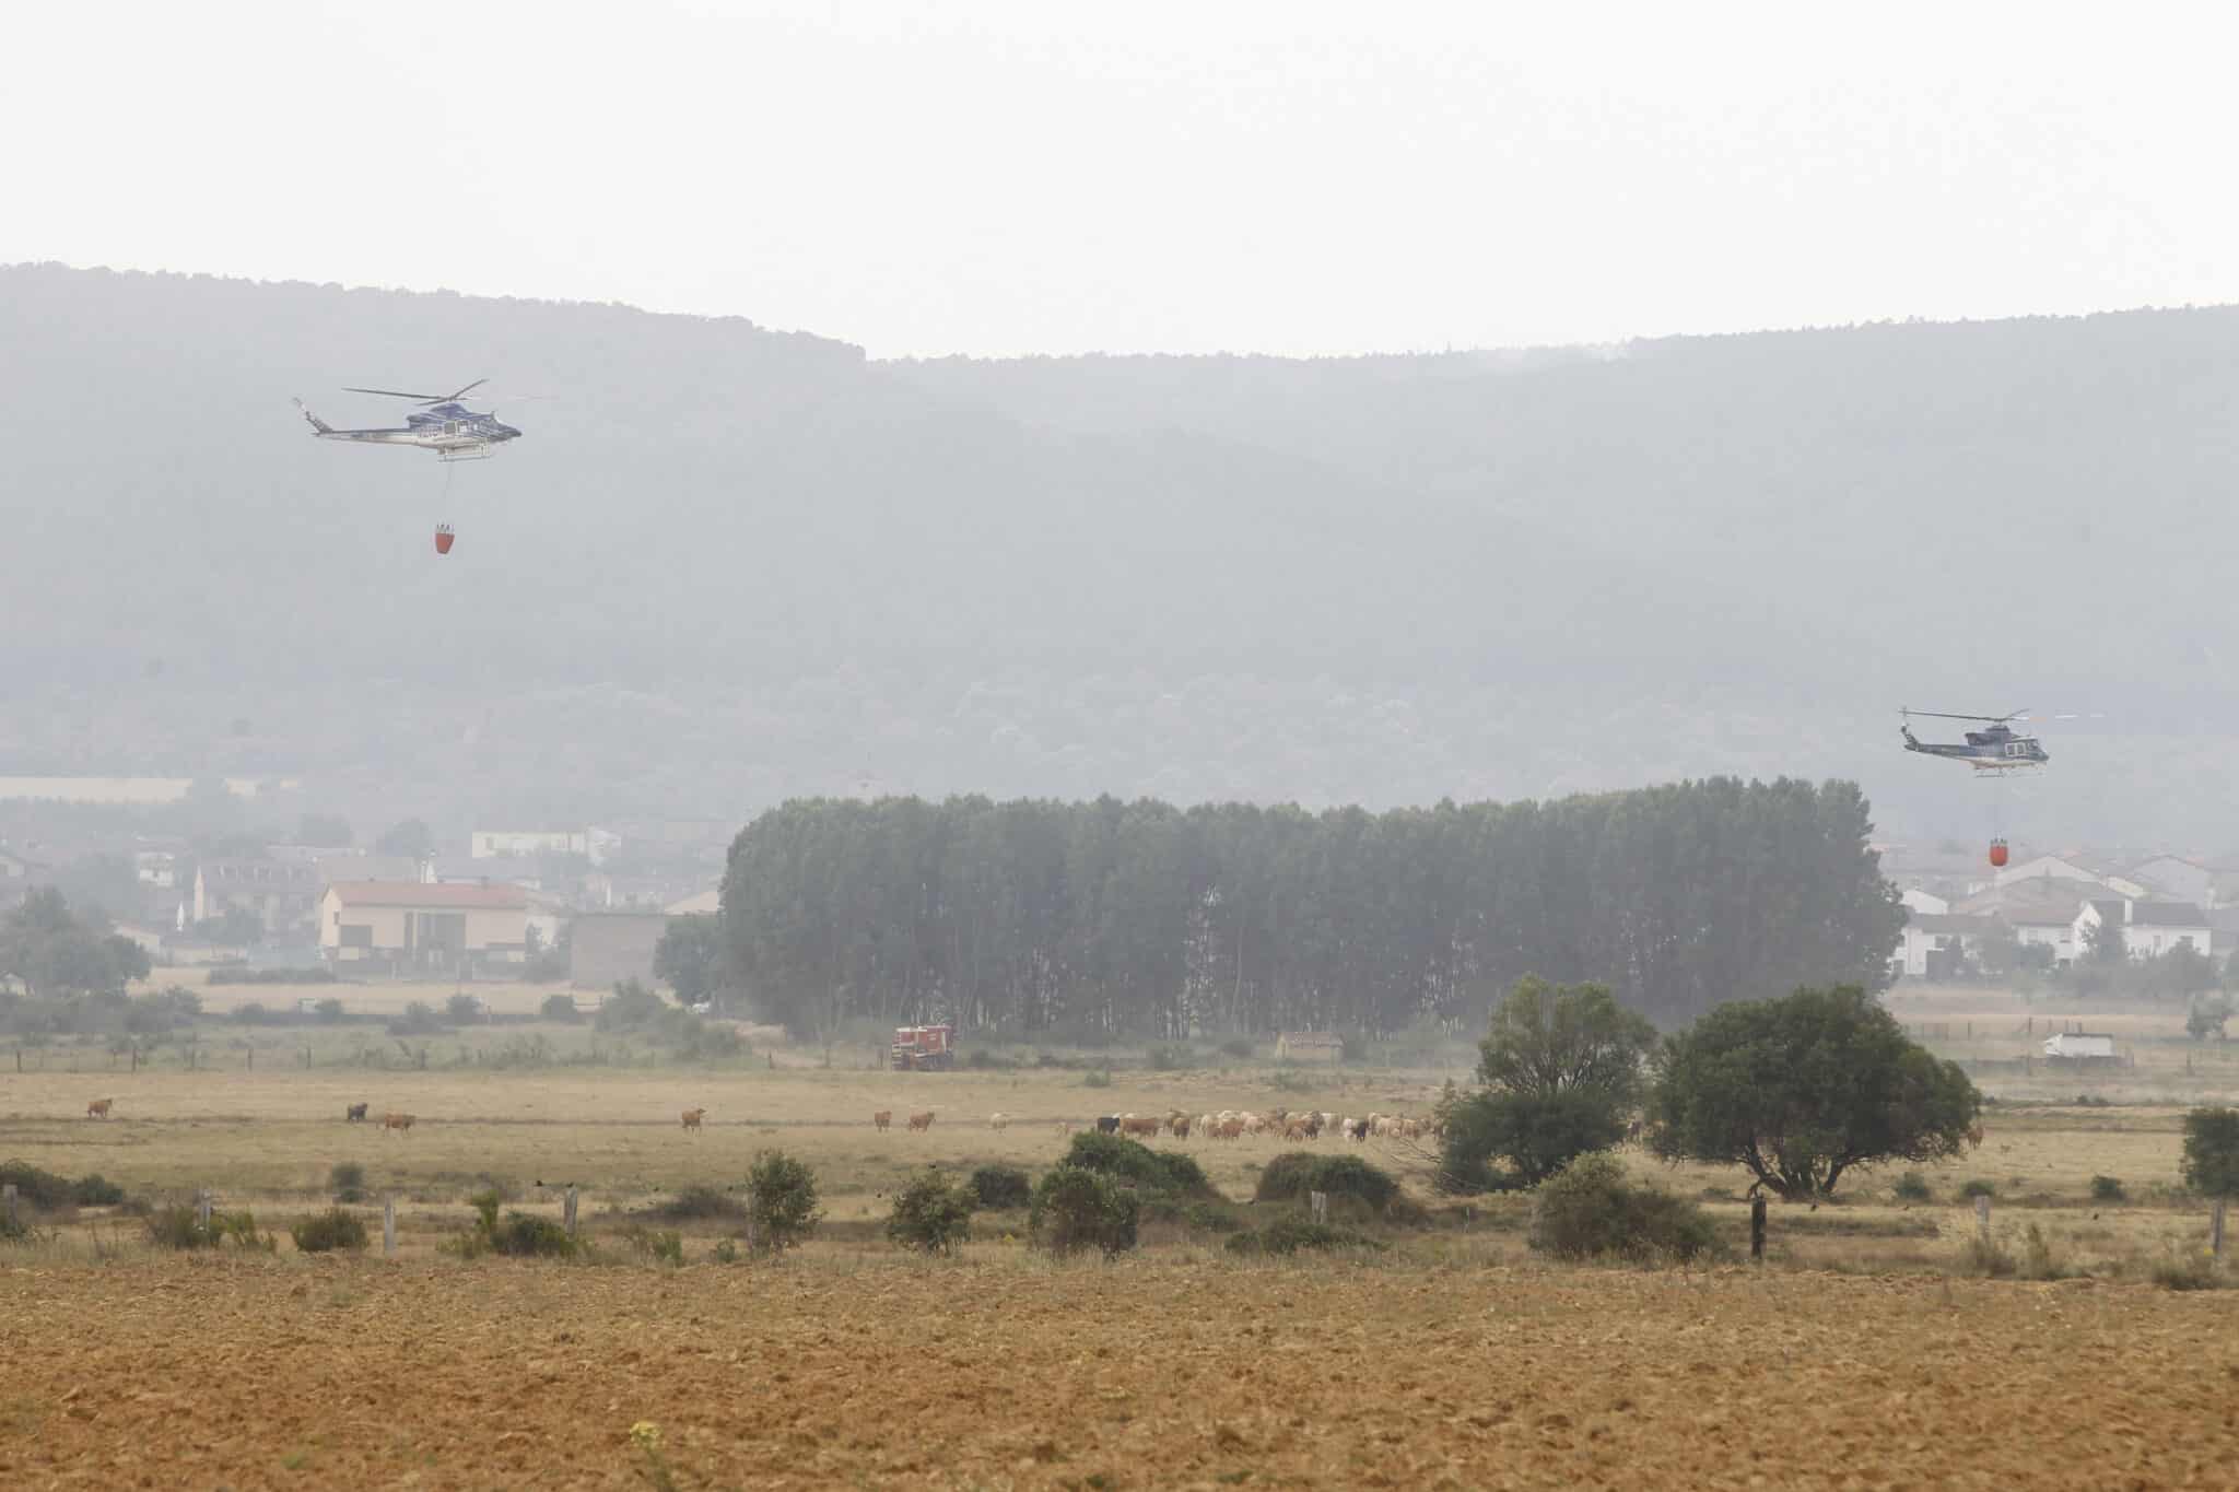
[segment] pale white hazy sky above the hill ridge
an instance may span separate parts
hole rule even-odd
[[[11,7],[0,259],[875,356],[2239,300],[2221,9]]]

